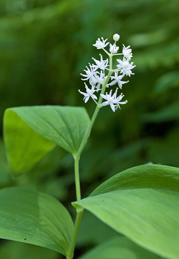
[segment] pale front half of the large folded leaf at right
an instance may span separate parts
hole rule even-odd
[[[159,189],[129,189],[75,202],[138,245],[178,259],[179,195]]]

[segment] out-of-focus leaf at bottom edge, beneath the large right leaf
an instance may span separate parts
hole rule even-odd
[[[80,256],[78,259],[159,259],[151,252],[136,245],[123,236],[113,239],[96,246],[89,252]]]

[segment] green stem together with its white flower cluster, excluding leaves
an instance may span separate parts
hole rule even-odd
[[[125,47],[123,45],[123,53],[117,54],[117,51],[119,49],[119,47],[116,46],[116,41],[118,41],[120,38],[120,36],[118,34],[115,34],[113,36],[114,39],[114,43],[113,45],[110,43],[110,53],[107,52],[107,50],[105,49],[105,47],[109,44],[109,42],[106,42],[107,39],[103,39],[103,37],[101,38],[102,40],[100,40],[100,38],[98,38],[98,40],[96,41],[95,44],[93,44],[93,46],[97,47],[97,49],[103,49],[109,56],[109,65],[108,65],[108,59],[103,60],[103,56],[100,54],[101,56],[101,60],[96,60],[95,58],[92,58],[96,65],[94,64],[90,64],[89,63],[89,67],[88,68],[86,66],[86,70],[85,74],[81,74],[83,77],[85,77],[82,80],[89,80],[89,83],[91,85],[91,89],[88,88],[88,86],[85,83],[85,88],[86,88],[86,93],[81,92],[80,90],[78,90],[80,92],[80,94],[84,95],[84,102],[86,103],[89,98],[91,97],[95,103],[97,104],[95,112],[91,118],[91,122],[86,130],[86,133],[84,135],[84,138],[80,144],[80,147],[78,149],[78,152],[76,153],[76,155],[74,156],[74,173],[75,173],[75,186],[76,186],[76,199],[77,201],[79,201],[81,199],[81,193],[80,193],[80,178],[79,178],[79,159],[80,159],[80,154],[83,151],[86,142],[89,138],[91,129],[93,127],[93,124],[95,122],[95,119],[98,115],[98,112],[100,110],[101,107],[106,106],[106,105],[110,105],[111,109],[115,112],[115,110],[120,106],[119,104],[126,104],[127,100],[124,102],[120,102],[121,99],[123,98],[123,94],[121,93],[118,97],[117,97],[117,89],[115,93],[112,95],[112,89],[110,90],[110,93],[105,93],[105,89],[106,87],[109,87],[111,85],[114,85],[115,83],[118,84],[118,86],[120,88],[122,88],[122,85],[124,83],[127,83],[128,81],[121,81],[121,79],[125,76],[125,75],[133,75],[134,73],[131,72],[131,69],[134,68],[135,66],[133,66],[133,62],[130,63],[131,57],[132,57],[132,53],[131,53],[131,49],[128,47]],[[113,64],[113,56],[114,55],[123,55],[123,60],[117,59],[117,62],[119,63],[117,65],[117,69],[112,69],[112,64]],[[109,68],[108,68],[109,67]],[[101,72],[97,71],[98,69],[101,69]],[[108,71],[108,75],[105,75],[105,70]],[[118,71],[120,71],[120,73],[122,73],[122,75],[118,76]],[[115,76],[111,77],[112,73],[115,72]],[[109,80],[113,80],[111,83],[108,84]],[[96,86],[97,83],[97,86]],[[101,89],[100,86],[102,87]],[[96,89],[95,89],[96,88]],[[98,102],[97,100],[97,96],[95,95],[95,92],[98,92],[99,90],[101,90],[101,94],[99,96],[99,100]],[[96,100],[95,100],[96,99]],[[102,102],[102,100],[105,99],[105,102]],[[68,254],[66,256],[66,259],[72,259],[73,258],[73,254],[74,254],[74,248],[75,248],[75,244],[76,244],[76,237],[77,237],[77,233],[78,233],[78,229],[79,229],[79,225],[80,225],[80,221],[82,218],[82,214],[83,214],[83,209],[82,208],[77,208],[76,209],[76,221],[75,221],[75,225],[74,225],[74,231],[73,231],[73,235],[72,235],[72,240],[70,242],[70,246],[69,246],[69,250],[68,250]]]

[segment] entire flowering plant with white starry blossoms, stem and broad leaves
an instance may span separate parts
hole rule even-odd
[[[111,177],[81,199],[79,159],[97,114],[103,106],[110,105],[115,112],[121,104],[127,103],[127,100],[122,101],[124,95],[117,92],[129,82],[123,78],[134,75],[130,46],[123,45],[122,52],[118,53],[119,35],[115,34],[113,40],[109,43],[107,39],[97,39],[93,46],[102,49],[109,59],[103,59],[101,54],[100,60],[92,58],[94,64],[89,63],[81,74],[82,80],[88,83],[85,82],[86,92],[78,91],[84,95],[85,103],[92,98],[97,104],[91,120],[83,107],[24,106],[5,111],[4,140],[13,176],[24,174],[55,145],[73,155],[76,201],[72,205],[76,209],[76,221],[73,224],[66,208],[50,195],[20,187],[3,188],[0,191],[0,237],[47,247],[72,259],[80,220],[86,209],[124,236],[95,247],[81,258],[162,256],[177,259],[178,168],[133,167]],[[112,62],[116,56],[122,58],[116,59],[114,68]]]

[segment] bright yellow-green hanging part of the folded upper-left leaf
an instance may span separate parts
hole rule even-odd
[[[7,159],[15,176],[23,174],[54,147],[54,143],[40,136],[18,116],[18,110],[23,107],[7,109],[4,114]]]

